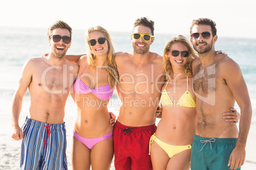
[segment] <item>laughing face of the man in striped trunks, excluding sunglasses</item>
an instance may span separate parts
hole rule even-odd
[[[52,35],[70,37],[69,31],[67,29],[54,29]],[[51,46],[50,53],[52,53],[53,56],[55,56],[56,58],[59,58],[59,60],[62,60],[64,58],[66,52],[71,46],[71,42],[69,42],[69,44],[66,44],[65,42],[63,42],[62,39],[60,39],[59,42],[53,42],[52,38],[49,39],[49,44]]]

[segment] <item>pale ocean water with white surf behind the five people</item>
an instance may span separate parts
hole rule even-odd
[[[115,51],[131,51],[132,44],[130,32],[110,32]],[[174,34],[155,34],[155,41],[150,51],[162,55],[164,46]],[[186,36],[186,35],[185,35]],[[189,38],[188,36],[186,36]],[[11,114],[11,98],[17,88],[22,65],[29,58],[42,56],[48,53],[47,29],[26,29],[17,27],[0,27],[0,114]],[[253,107],[252,123],[256,124],[256,39],[239,39],[236,37],[218,37],[215,49],[227,53],[236,61],[243,72]],[[71,48],[68,54],[85,54],[85,30],[73,30]],[[113,100],[118,97],[115,94]],[[24,101],[29,102],[29,94],[26,93]],[[116,103],[118,107],[118,103]],[[71,98],[67,101],[68,112],[73,115],[75,109]],[[236,108],[239,110],[238,105]],[[117,113],[118,108],[110,108]],[[28,108],[22,108],[22,112],[28,112]],[[69,113],[71,112],[71,113]]]

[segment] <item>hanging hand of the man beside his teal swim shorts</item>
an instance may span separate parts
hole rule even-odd
[[[245,147],[236,146],[229,157],[229,164],[231,169],[237,169],[245,163]]]

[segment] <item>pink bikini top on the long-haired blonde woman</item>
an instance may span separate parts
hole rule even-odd
[[[87,66],[85,67],[85,69],[87,68]],[[83,69],[83,71],[85,69]],[[80,74],[80,77],[83,74],[83,71]],[[93,93],[94,95],[96,95],[97,98],[99,98],[101,100],[109,100],[111,98],[111,96],[113,95],[113,88],[110,87],[110,84],[101,86],[96,89],[90,89],[89,86],[87,86],[85,84],[85,82],[83,82],[80,79],[80,77],[78,77],[78,79],[76,79],[76,82],[74,84],[74,90],[75,90],[76,94],[85,95],[88,93]]]

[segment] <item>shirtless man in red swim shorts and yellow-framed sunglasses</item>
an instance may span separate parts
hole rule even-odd
[[[162,56],[149,51],[154,22],[138,18],[131,34],[133,51],[115,55],[122,105],[113,130],[115,169],[152,169],[148,155],[155,132],[155,112],[164,82]]]

